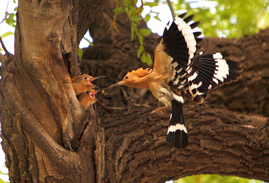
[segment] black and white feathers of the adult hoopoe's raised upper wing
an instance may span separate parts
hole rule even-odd
[[[186,14],[184,13],[176,17],[169,29],[167,29],[168,22],[162,36],[164,51],[172,57],[171,64],[173,70],[169,84],[180,90],[186,90],[187,78],[189,77],[187,71],[193,64],[192,59],[196,57],[197,52],[201,48],[197,44],[203,41],[203,39],[197,38],[201,35],[201,32],[192,31],[200,22],[194,22],[189,25],[188,23],[194,16],[191,15],[183,19]]]

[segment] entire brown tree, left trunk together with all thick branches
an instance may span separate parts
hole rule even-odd
[[[208,103],[186,103],[190,145],[179,150],[165,142],[170,114],[150,115],[161,104],[149,91],[121,86],[97,95],[98,115],[76,100],[70,76],[80,73],[77,45],[91,24],[95,45],[84,49],[82,73],[107,76],[94,84],[107,87],[146,66],[136,58],[139,43],[130,41],[126,16],[116,17],[120,32],[109,30],[115,5],[109,1],[98,14],[103,4],[19,1],[15,55],[0,55],[10,181],[165,182],[202,173],[269,181],[269,29],[239,40],[205,39],[208,53],[232,54],[244,71],[211,91]],[[152,58],[157,38],[144,40]]]

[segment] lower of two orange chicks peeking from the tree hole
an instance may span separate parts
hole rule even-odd
[[[101,90],[95,91],[94,89],[88,89],[86,92],[83,92],[78,95],[77,100],[82,104],[85,110],[87,110],[91,104],[95,103],[96,101],[99,101],[94,96],[99,91]]]

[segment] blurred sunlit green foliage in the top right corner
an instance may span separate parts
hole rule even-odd
[[[194,20],[201,22],[199,27],[207,37],[240,38],[269,26],[268,0],[180,0],[174,6],[195,14]]]

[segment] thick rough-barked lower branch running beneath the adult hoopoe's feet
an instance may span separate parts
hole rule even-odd
[[[208,105],[184,110],[189,147],[166,143],[170,114],[150,115],[145,107],[108,113],[106,163],[120,182],[164,182],[193,175],[219,174],[269,181],[269,119]],[[112,145],[113,144],[113,145]]]

